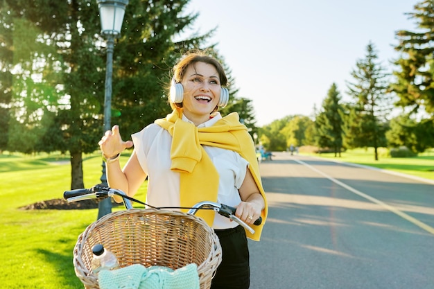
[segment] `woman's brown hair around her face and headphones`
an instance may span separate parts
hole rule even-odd
[[[196,62],[204,62],[214,66],[217,70],[218,78],[220,78],[220,85],[222,87],[227,86],[227,77],[222,64],[220,64],[220,62],[218,62],[216,58],[201,50],[193,50],[185,53],[184,56],[180,59],[180,61],[175,64],[172,69],[173,78],[171,80],[171,85],[173,81],[175,81],[176,83],[182,82],[187,68],[190,65],[194,65]],[[182,103],[171,103],[170,96],[168,99],[173,109],[175,109],[175,107],[182,107]]]

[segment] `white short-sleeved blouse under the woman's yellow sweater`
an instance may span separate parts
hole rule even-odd
[[[221,118],[217,113],[198,127],[209,127]],[[182,120],[191,123],[184,115]],[[171,170],[171,134],[152,123],[140,132],[132,134],[131,137],[140,166],[148,175],[146,202],[154,207],[180,207],[180,173]],[[203,148],[219,173],[217,202],[232,207],[237,206],[241,202],[238,189],[243,184],[248,161],[232,150],[213,146],[203,146]],[[238,225],[236,222],[230,222],[228,218],[216,213],[212,227],[227,229],[236,225]]]

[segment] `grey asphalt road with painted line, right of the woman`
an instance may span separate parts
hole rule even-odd
[[[434,288],[434,182],[287,152],[260,166],[251,289]]]

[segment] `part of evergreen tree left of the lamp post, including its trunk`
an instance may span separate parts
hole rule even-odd
[[[2,33],[12,33],[14,60],[8,71],[15,70],[8,149],[35,152],[38,146],[47,148],[44,145],[53,144],[40,143],[44,133],[42,119],[47,123],[49,117],[53,118],[51,124],[67,137],[71,188],[83,187],[81,152],[94,150],[88,139],[97,141],[97,134],[83,130],[98,123],[98,99],[89,87],[101,79],[98,68],[103,64],[94,46],[96,5],[90,5],[90,1],[4,2],[7,5],[2,6],[0,13],[11,15],[11,20],[6,28],[3,26]],[[62,114],[63,110],[68,113]],[[20,135],[29,140],[24,148],[14,145]]]

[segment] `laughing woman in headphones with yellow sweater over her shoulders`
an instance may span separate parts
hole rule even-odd
[[[123,141],[119,127],[99,142],[107,165],[107,182],[132,196],[148,177],[148,204],[155,207],[191,207],[211,200],[236,207],[236,216],[252,225],[267,205],[259,176],[256,152],[238,114],[222,118],[227,104],[227,77],[221,64],[201,51],[187,53],[173,68],[169,103],[173,112]],[[119,155],[134,151],[121,169]],[[211,288],[249,288],[247,238],[259,240],[263,223],[254,235],[229,219],[202,210],[198,216],[214,228],[223,260]]]

